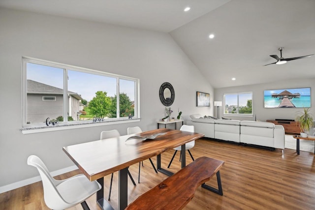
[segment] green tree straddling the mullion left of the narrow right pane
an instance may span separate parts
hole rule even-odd
[[[111,108],[111,117],[116,118],[117,115],[117,95],[111,98],[112,99],[112,108]],[[122,92],[119,93],[119,110],[120,117],[128,117],[129,114],[134,116],[134,107],[132,106],[132,102],[130,101],[129,96]]]

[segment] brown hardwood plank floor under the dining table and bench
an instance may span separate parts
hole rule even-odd
[[[221,168],[223,196],[198,187],[194,198],[185,210],[313,210],[315,208],[315,155],[312,152],[285,149],[269,151],[235,144],[200,139],[191,150],[194,158],[208,156],[225,161]],[[174,151],[162,154],[162,167],[166,168]],[[156,158],[152,158],[156,163]],[[187,162],[192,160],[189,154]],[[179,154],[170,170],[180,169]],[[48,166],[49,169],[49,166]],[[133,178],[138,178],[138,164],[129,167]],[[63,174],[65,179],[80,173],[79,170]],[[118,173],[114,175],[111,205],[117,209]],[[128,179],[128,201],[157,185],[166,178],[156,174],[149,162],[141,167],[140,184],[133,186]],[[207,182],[216,186],[216,177]],[[108,194],[110,176],[104,178],[105,197]],[[185,186],[183,186],[185,187]],[[95,195],[87,200],[91,210],[99,210]],[[41,182],[36,182],[0,194],[1,210],[46,210]],[[78,205],[71,210],[82,210]]]

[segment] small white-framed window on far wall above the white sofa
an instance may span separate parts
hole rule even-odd
[[[252,116],[252,92],[224,93],[224,115]]]

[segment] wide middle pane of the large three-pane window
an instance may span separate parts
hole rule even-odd
[[[116,118],[116,78],[68,70],[68,119]],[[71,102],[71,104],[70,104]]]

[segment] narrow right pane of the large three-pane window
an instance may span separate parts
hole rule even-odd
[[[135,82],[131,80],[119,80],[119,111],[120,117],[134,116],[134,92]]]

